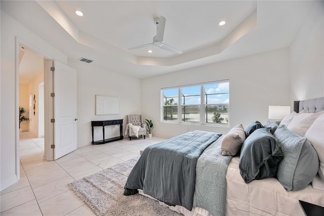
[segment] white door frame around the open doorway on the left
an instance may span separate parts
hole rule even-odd
[[[22,40],[19,37],[15,37],[15,161],[16,161],[16,167],[15,167],[15,174],[17,176],[17,181],[20,179],[20,155],[19,155],[19,47],[20,45],[28,48],[29,50],[32,50],[35,53],[38,53],[39,55],[42,55],[44,59],[53,59],[51,56],[48,54],[44,53],[44,51],[39,50],[35,46],[29,44],[28,42]],[[46,125],[51,125],[49,122],[47,122],[47,119],[50,119],[50,114],[49,110],[53,109],[48,109],[50,106],[49,103],[49,94],[48,92],[48,87],[50,84],[49,76],[47,71],[44,70],[44,121],[45,121],[45,127]],[[52,111],[53,112],[53,111]],[[53,130],[52,132],[46,134],[46,129],[45,129],[45,134],[44,134],[44,141],[45,143],[50,143],[49,140],[49,135],[52,133],[53,137]],[[51,158],[48,158],[48,145],[44,145],[45,150],[44,150],[44,159],[51,160]],[[51,149],[50,149],[51,150]],[[52,151],[53,152],[53,151]],[[53,154],[52,154],[53,158]],[[53,159],[52,159],[53,160]]]

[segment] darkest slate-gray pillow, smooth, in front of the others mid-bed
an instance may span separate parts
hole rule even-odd
[[[275,176],[283,157],[270,128],[260,128],[242,145],[238,164],[240,174],[246,183]]]

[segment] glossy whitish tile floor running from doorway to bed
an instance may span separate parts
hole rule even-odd
[[[95,215],[67,186],[165,138],[128,138],[80,147],[56,161],[43,160],[44,138],[20,134],[20,180],[1,191],[1,215]]]

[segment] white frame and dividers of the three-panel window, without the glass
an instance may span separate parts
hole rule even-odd
[[[192,84],[192,85],[185,85],[185,86],[177,86],[177,87],[170,87],[170,88],[162,88],[160,93],[161,93],[161,115],[160,119],[162,123],[173,123],[173,124],[192,124],[192,125],[208,125],[208,126],[220,126],[220,127],[229,127],[229,110],[230,110],[230,105],[228,102],[228,123],[227,124],[220,124],[220,123],[207,123],[207,120],[205,119],[205,107],[206,105],[219,105],[219,104],[205,104],[205,85],[210,85],[210,84],[216,84],[216,83],[226,83],[229,80],[220,80],[220,81],[213,81],[213,82],[208,82],[208,83],[199,83],[199,84]],[[190,87],[190,86],[200,86],[200,104],[183,104],[183,99],[182,99],[182,88],[184,87]],[[172,105],[164,105],[164,95],[163,91],[167,89],[178,89],[178,120],[177,121],[169,121],[169,120],[164,120],[164,107],[172,106]],[[228,94],[230,94],[230,91],[228,90]],[[230,96],[229,96],[230,97]],[[182,106],[200,106],[200,119],[199,122],[185,122],[182,121]]]

